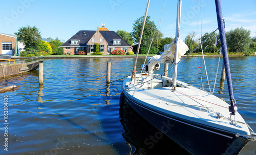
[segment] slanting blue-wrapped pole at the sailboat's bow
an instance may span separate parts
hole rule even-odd
[[[215,5],[216,5],[217,20],[218,20],[218,28],[220,32],[223,62],[224,62],[225,73],[227,78],[228,93],[229,93],[229,99],[231,104],[231,106],[229,106],[229,112],[231,112],[230,115],[235,115],[237,112],[237,106],[234,106],[234,104],[236,104],[236,100],[234,99],[234,96],[233,96],[233,86],[232,86],[232,80],[231,80],[231,74],[230,74],[230,68],[229,68],[227,42],[226,42],[226,35],[225,35],[224,19],[222,16],[221,1],[215,0]]]

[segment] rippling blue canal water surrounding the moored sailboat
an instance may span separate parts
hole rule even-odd
[[[211,91],[218,57],[206,57]],[[112,62],[111,80],[130,75],[134,58],[45,59],[44,86],[38,70],[1,79],[1,87],[18,90],[1,95],[0,154],[187,154],[125,105],[119,107],[122,81],[106,88],[106,62]],[[137,71],[144,59],[139,58]],[[205,90],[202,58],[189,57],[178,65],[178,79]],[[227,85],[220,86],[222,61],[215,95],[228,102]],[[256,130],[256,57],[230,57],[230,68],[239,113]],[[162,73],[163,66],[156,73]],[[169,72],[170,74],[170,72]],[[8,134],[4,128],[4,98],[8,96]],[[8,135],[8,151],[4,150]],[[220,140],[221,141],[221,140]],[[256,154],[250,142],[240,154]],[[209,140],[209,145],[211,142]],[[218,149],[218,148],[216,148]],[[209,150],[210,151],[210,150]]]

